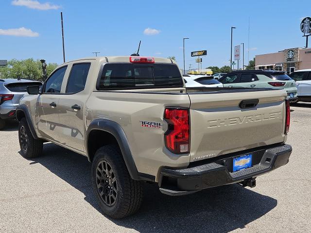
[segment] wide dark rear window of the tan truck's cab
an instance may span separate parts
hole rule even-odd
[[[104,65],[97,89],[183,87],[173,64],[110,63]]]

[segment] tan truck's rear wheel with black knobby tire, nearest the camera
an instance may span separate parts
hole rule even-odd
[[[140,208],[143,183],[132,180],[118,147],[108,145],[96,151],[92,163],[92,183],[105,215],[123,218],[133,215]]]

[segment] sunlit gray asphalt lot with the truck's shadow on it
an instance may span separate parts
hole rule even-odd
[[[135,216],[103,216],[93,196],[86,157],[52,143],[43,156],[19,153],[17,124],[0,132],[0,232],[310,232],[311,103],[292,107],[288,165],[257,178],[184,197],[146,184]]]

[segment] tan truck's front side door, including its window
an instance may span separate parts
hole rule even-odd
[[[58,101],[67,66],[55,70],[42,87],[36,103],[36,122],[40,135],[58,141],[61,128],[58,116]]]

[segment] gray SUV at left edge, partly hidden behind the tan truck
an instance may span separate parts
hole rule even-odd
[[[42,85],[26,79],[0,79],[0,130],[6,120],[15,119],[19,100],[27,93],[27,86]]]

